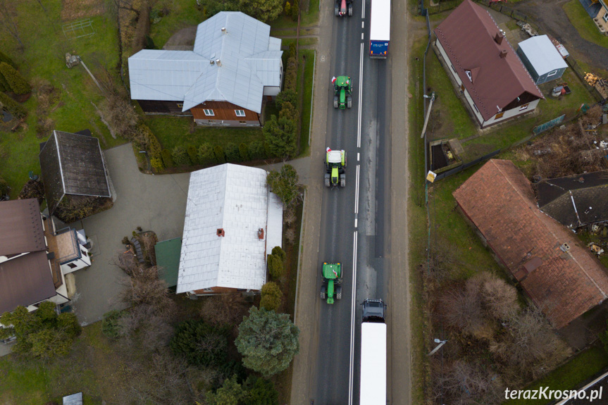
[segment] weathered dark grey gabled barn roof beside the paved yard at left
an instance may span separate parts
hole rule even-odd
[[[111,197],[99,139],[53,131],[40,151],[40,168],[49,213],[66,194]]]

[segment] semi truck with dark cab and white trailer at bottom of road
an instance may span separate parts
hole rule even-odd
[[[386,305],[382,299],[362,305],[359,405],[386,404]]]

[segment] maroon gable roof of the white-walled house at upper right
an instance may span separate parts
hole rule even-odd
[[[471,0],[464,0],[435,28],[438,41],[484,120],[518,97],[526,102],[543,98],[507,38],[501,44],[495,41],[499,32],[490,13]],[[502,51],[507,51],[504,58],[500,57]],[[472,82],[466,70],[471,72]]]

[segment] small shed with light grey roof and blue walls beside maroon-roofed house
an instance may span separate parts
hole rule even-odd
[[[520,42],[517,54],[537,85],[559,79],[568,67],[547,35]]]

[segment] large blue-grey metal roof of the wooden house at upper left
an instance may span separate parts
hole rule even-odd
[[[131,99],[183,101],[182,112],[229,101],[260,113],[264,88],[280,89],[280,44],[270,25],[221,11],[199,24],[192,51],[144,49],[131,56]]]

